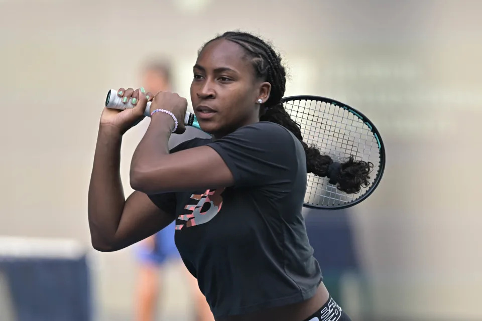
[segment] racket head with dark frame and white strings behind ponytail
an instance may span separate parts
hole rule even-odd
[[[385,147],[373,122],[358,110],[334,99],[320,96],[290,96],[282,99],[290,117],[301,126],[303,141],[315,145],[322,155],[344,163],[350,155],[355,161],[373,163],[369,185],[347,194],[330,184],[326,177],[307,174],[303,206],[338,210],[367,199],[378,187],[385,170]]]

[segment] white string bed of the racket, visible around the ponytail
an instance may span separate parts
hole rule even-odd
[[[321,154],[344,163],[353,155],[355,161],[374,164],[370,185],[356,194],[346,194],[328,183],[329,179],[307,175],[305,203],[336,206],[350,203],[365,194],[373,184],[380,164],[380,150],[371,129],[353,113],[335,104],[316,100],[285,102],[285,109],[301,126],[303,140],[315,145]]]

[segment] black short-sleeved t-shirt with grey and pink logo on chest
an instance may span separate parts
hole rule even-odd
[[[219,153],[234,185],[150,198],[176,217],[176,246],[214,316],[313,296],[322,276],[301,215],[306,158],[299,140],[263,121],[215,141],[185,141],[171,152],[202,145]]]

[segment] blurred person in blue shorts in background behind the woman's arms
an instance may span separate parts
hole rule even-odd
[[[142,83],[147,92],[154,94],[160,91],[171,91],[171,65],[162,58],[150,59],[142,68]],[[147,127],[146,127],[147,128]],[[206,133],[190,127],[181,135],[173,135],[169,141],[172,147],[195,137],[209,137]],[[175,222],[158,233],[134,245],[136,258],[139,262],[137,289],[135,296],[136,321],[153,321],[157,303],[162,297],[160,281],[161,267],[170,260],[178,260],[179,267],[185,270],[189,287],[195,300],[195,320],[214,320],[206,298],[199,290],[197,280],[188,272],[180,260],[179,252],[174,243]]]

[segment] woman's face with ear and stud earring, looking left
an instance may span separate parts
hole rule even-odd
[[[259,121],[258,99],[271,85],[255,76],[245,49],[225,39],[208,43],[193,68],[191,101],[202,130],[215,138]]]

